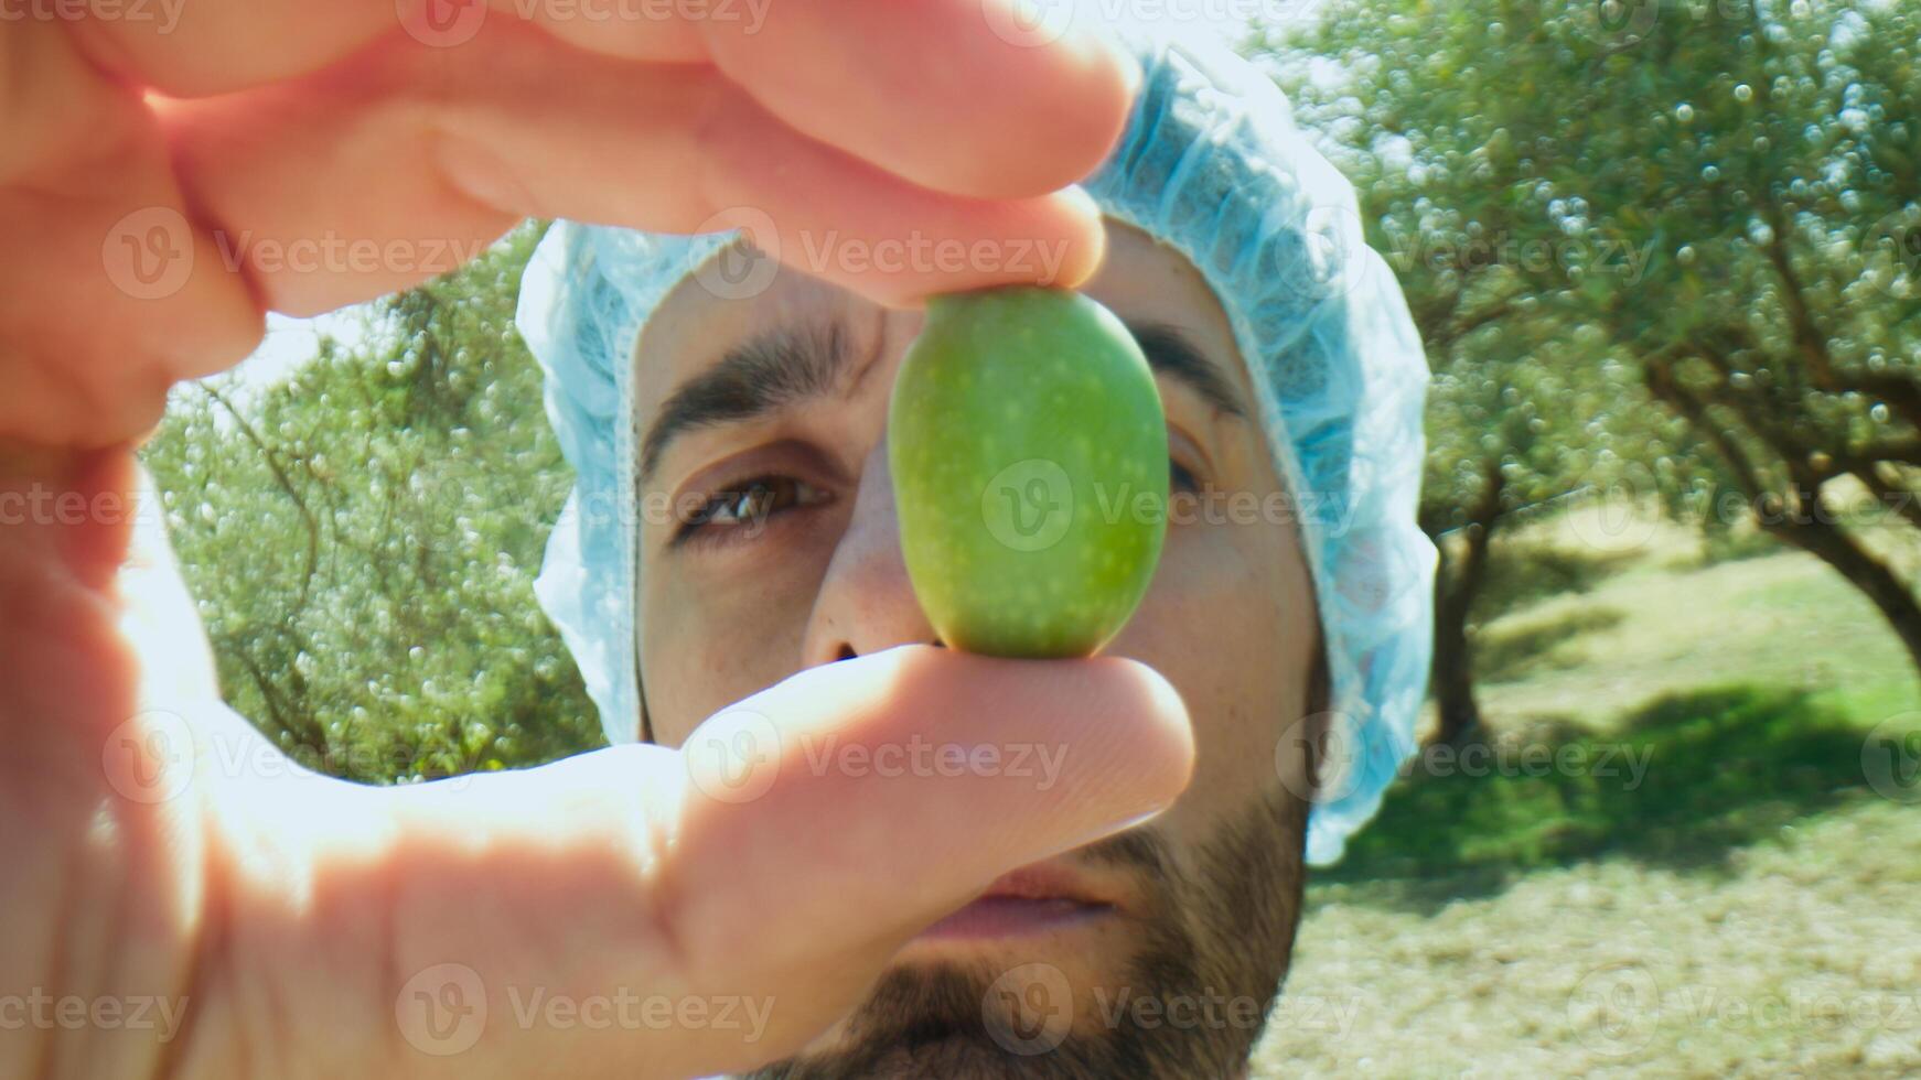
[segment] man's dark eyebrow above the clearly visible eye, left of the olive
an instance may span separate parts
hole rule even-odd
[[[838,322],[782,326],[726,351],[720,363],[680,384],[640,441],[645,483],[667,445],[680,435],[766,416],[834,389],[847,366],[847,336]]]

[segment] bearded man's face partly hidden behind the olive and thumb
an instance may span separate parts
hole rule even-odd
[[[1118,223],[1108,238],[1085,292],[1155,366],[1170,524],[1106,652],[1181,693],[1193,785],[1145,825],[995,882],[759,1076],[1220,1080],[1245,1068],[1287,973],[1306,735],[1325,708],[1314,591],[1220,303],[1179,253]],[[688,278],[649,318],[634,357],[638,495],[705,510],[638,524],[647,737],[678,746],[803,668],[936,641],[901,560],[886,453],[888,393],[918,326],[790,269],[745,299]],[[897,765],[916,767],[901,750]],[[1045,744],[999,762],[1047,783]],[[861,898],[847,902],[857,917]]]

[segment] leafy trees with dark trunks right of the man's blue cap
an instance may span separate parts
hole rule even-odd
[[[1356,0],[1266,27],[1437,372],[1437,737],[1479,721],[1493,531],[1564,493],[1744,516],[1921,668],[1913,6]],[[1729,501],[1725,491],[1737,491]]]

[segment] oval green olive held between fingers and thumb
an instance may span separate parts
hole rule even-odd
[[[901,551],[941,641],[1087,656],[1160,558],[1168,428],[1108,309],[1049,288],[928,301],[888,409]]]

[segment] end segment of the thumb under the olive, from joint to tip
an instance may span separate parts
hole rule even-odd
[[[1143,664],[901,646],[755,694],[682,756],[659,898],[690,963],[726,978],[834,934],[886,957],[995,877],[1166,808],[1193,744]]]

